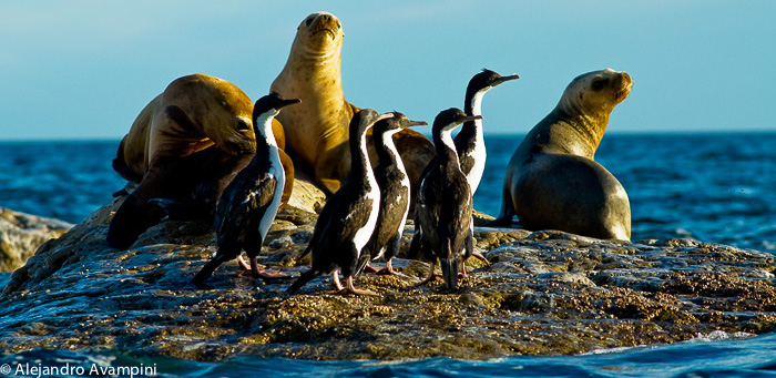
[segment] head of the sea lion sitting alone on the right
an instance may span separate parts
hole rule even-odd
[[[565,88],[559,106],[588,116],[605,116],[631,93],[633,80],[627,72],[612,69],[583,73]]]

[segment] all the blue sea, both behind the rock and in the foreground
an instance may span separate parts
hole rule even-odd
[[[474,207],[498,215],[503,173],[522,135],[487,137],[488,164]],[[79,223],[112,200],[124,181],[111,168],[119,141],[0,142],[0,206]],[[776,253],[776,133],[604,136],[595,160],[631,201],[632,238],[690,237]],[[0,275],[0,285],[8,275]],[[724,339],[725,335],[716,338]],[[476,356],[472,356],[476,357]],[[760,377],[776,376],[776,335],[698,338],[672,346],[583,356],[497,360],[429,358],[400,362],[298,361],[242,357],[219,364],[140,357],[131,350],[39,349],[0,365],[154,366],[159,376],[345,377]],[[0,376],[17,376],[16,370]],[[116,376],[122,376],[116,374]],[[130,372],[126,374],[130,376]],[[134,375],[142,377],[144,375]]]

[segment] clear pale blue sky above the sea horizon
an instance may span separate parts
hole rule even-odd
[[[776,131],[770,0],[3,0],[0,140],[118,141],[196,72],[256,100],[315,11],[343,23],[359,108],[430,123],[488,68],[521,79],[486,95],[486,133],[523,134],[573,78],[611,68],[634,84],[607,133]]]

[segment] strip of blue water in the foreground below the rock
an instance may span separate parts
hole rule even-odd
[[[426,358],[406,361],[308,361],[239,357],[201,362],[120,351],[38,349],[0,356],[0,376],[35,376],[33,369],[65,369],[85,377],[110,371],[113,377],[773,377],[776,336],[724,340],[712,335],[670,345],[601,350],[581,356],[508,357],[491,360]],[[718,339],[718,338],[722,338]],[[7,366],[7,367],[4,367]],[[20,367],[21,366],[21,367]],[[83,370],[79,371],[78,368]],[[135,368],[135,372],[131,370]],[[6,370],[3,370],[6,369]],[[123,370],[120,370],[123,369]],[[32,372],[32,374],[30,374]],[[91,372],[91,374],[90,374]],[[121,374],[124,372],[124,374]]]

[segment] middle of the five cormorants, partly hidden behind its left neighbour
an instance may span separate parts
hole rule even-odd
[[[407,127],[427,124],[410,121],[404,114],[394,112],[394,116],[375,123],[372,127],[375,151],[379,159],[375,178],[380,187],[380,213],[367,246],[371,259],[386,259],[385,269],[378,274],[395,274],[391,259],[399,253],[410,204],[409,176],[394,144],[394,134]]]

